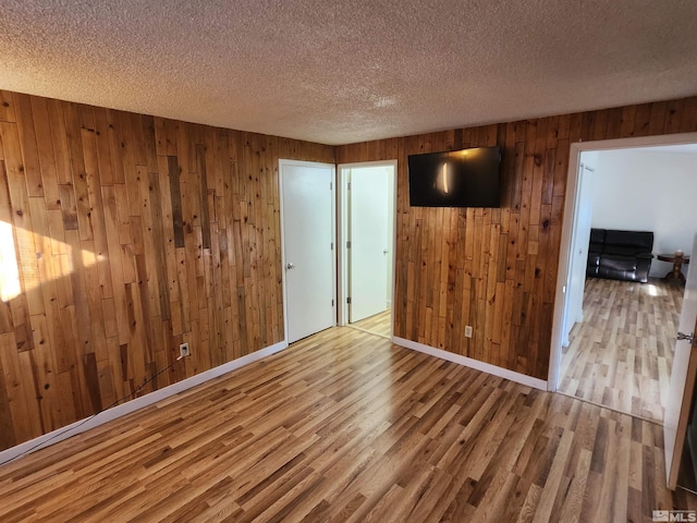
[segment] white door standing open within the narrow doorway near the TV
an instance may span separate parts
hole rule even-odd
[[[350,323],[388,308],[388,269],[392,260],[389,212],[392,170],[391,167],[351,170]]]

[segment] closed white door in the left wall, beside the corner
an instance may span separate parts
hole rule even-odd
[[[334,325],[334,167],[280,161],[286,341]]]

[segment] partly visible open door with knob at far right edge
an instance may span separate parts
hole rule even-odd
[[[690,260],[697,260],[697,234],[693,243]],[[683,309],[680,315],[678,331],[685,335],[697,332],[697,264],[690,264],[687,270],[685,296]],[[697,357],[695,356],[695,343],[688,340],[675,342],[673,354],[673,370],[668,390],[665,405],[665,419],[663,422],[663,439],[665,448],[665,475],[667,484],[671,489],[677,483],[689,410],[692,406],[693,390],[697,370]]]

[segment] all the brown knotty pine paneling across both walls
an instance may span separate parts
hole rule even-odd
[[[570,144],[697,131],[686,98],[335,148],[0,99],[2,260],[17,273],[0,305],[0,448],[133,392],[183,341],[193,357],[143,393],[283,339],[279,158],[398,159],[394,335],[545,378]],[[408,207],[409,154],[496,144],[502,208]]]

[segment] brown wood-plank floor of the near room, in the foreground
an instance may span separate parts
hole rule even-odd
[[[648,522],[661,427],[333,328],[0,467],[0,521]]]

